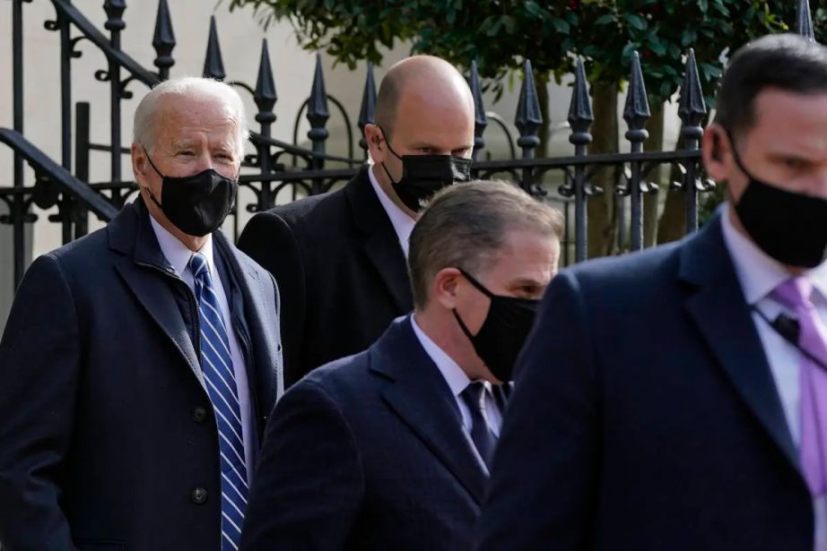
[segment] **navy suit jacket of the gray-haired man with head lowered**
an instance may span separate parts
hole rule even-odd
[[[400,318],[276,405],[241,547],[469,549],[487,478],[448,383]]]

